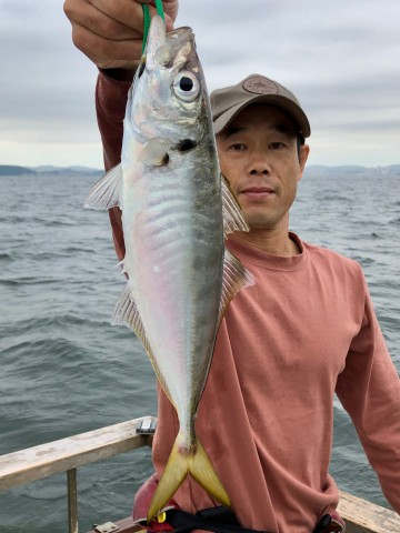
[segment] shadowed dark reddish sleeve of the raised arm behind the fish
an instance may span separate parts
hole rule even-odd
[[[99,71],[96,86],[96,111],[107,171],[121,161],[123,117],[130,86],[130,82],[114,80],[104,71]],[[116,252],[121,261],[124,258],[121,210],[109,209],[109,217]]]

